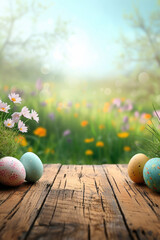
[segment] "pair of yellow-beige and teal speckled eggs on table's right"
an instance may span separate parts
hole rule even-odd
[[[146,183],[156,192],[160,192],[160,158],[149,159],[145,154],[134,155],[128,163],[128,175],[135,183]]]

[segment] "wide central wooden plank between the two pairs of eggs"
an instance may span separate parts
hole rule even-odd
[[[62,166],[27,239],[131,239],[102,166]]]

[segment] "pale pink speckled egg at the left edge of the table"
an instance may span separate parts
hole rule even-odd
[[[3,157],[0,159],[0,183],[7,186],[18,186],[26,177],[23,164],[14,157]]]

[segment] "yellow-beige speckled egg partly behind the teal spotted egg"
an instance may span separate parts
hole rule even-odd
[[[138,153],[134,155],[128,163],[128,175],[135,183],[144,183],[143,168],[149,158],[143,154]]]

